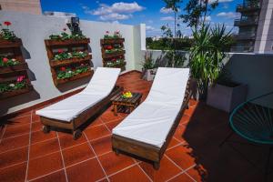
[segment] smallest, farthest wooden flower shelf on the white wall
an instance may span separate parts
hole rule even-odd
[[[126,70],[124,38],[104,38],[100,40],[103,66]]]

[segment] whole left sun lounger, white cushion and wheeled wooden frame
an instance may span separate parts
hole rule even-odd
[[[78,126],[106,106],[112,96],[121,92],[121,88],[115,86],[119,73],[120,68],[98,67],[83,91],[37,110],[36,115],[41,116],[44,132],[48,133],[50,127],[55,126],[73,130],[75,139],[80,136]]]

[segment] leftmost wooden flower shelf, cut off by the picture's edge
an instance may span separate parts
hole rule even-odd
[[[21,51],[22,40],[0,38],[0,99],[33,90],[27,76],[28,66]]]

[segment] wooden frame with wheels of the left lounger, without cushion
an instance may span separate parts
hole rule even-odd
[[[113,96],[120,94],[122,91],[123,87],[115,86],[108,96],[106,96],[100,102],[96,103],[96,105],[86,109],[86,111],[82,112],[80,115],[78,115],[75,119],[73,119],[70,122],[40,116],[41,122],[44,125],[43,126],[44,133],[49,133],[51,127],[69,129],[72,130],[73,138],[77,139],[78,137],[81,136],[81,130],[79,129],[79,126],[86,123],[86,121],[90,117],[95,116],[100,110],[102,110],[106,105],[108,105],[111,102],[111,98]]]

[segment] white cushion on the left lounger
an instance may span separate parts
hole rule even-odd
[[[56,104],[36,111],[36,115],[70,122],[110,94],[116,85],[119,68],[98,67],[86,88]]]

